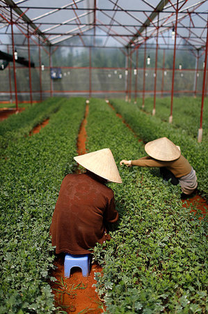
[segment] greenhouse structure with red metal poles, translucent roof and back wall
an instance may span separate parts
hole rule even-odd
[[[1,100],[15,97],[18,109],[18,97],[32,104],[61,94],[89,98],[114,95],[135,101],[140,96],[144,105],[145,95],[151,94],[155,114],[156,97],[170,95],[171,122],[173,96],[187,94],[202,96],[203,112],[207,93],[207,1],[139,1],[139,8],[133,1],[128,5],[112,0],[59,1],[58,5],[50,1],[50,6],[41,2],[38,6],[39,2],[1,1],[1,70],[5,73]],[[72,66],[57,62],[58,52],[67,54],[69,49],[72,59],[76,53],[79,59],[85,54],[84,66],[80,60],[80,66],[73,61]],[[109,58],[112,50],[123,54],[122,66],[93,66],[97,50],[107,56],[110,52]],[[195,68],[183,68],[177,61],[177,53],[182,50],[192,54]],[[167,68],[166,54],[170,51],[173,66]],[[74,84],[77,75],[79,82]]]

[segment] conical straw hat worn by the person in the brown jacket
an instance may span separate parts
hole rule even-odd
[[[115,183],[122,183],[111,149],[100,149],[92,153],[75,156],[74,159],[99,177]]]

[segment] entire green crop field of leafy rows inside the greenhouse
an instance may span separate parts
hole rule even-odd
[[[107,313],[207,311],[207,218],[194,206],[184,208],[179,186],[164,184],[157,168],[119,165],[123,158],[144,156],[145,142],[166,136],[181,147],[196,171],[200,195],[208,200],[207,126],[198,143],[200,101],[185,99],[186,119],[182,98],[175,99],[171,125],[166,98],[157,100],[154,117],[148,114],[151,98],[145,99],[147,112],[140,109],[141,99],[137,104],[109,99],[114,110],[105,100],[90,99],[86,149],[109,147],[123,181],[109,184],[120,214],[109,226],[111,241],[97,244],[93,253],[102,266],[103,274],[95,274],[96,290]],[[0,313],[58,313],[49,285],[54,280],[49,227],[61,181],[76,169],[86,99],[48,98],[25,107],[0,124]],[[49,124],[29,136],[45,119]]]

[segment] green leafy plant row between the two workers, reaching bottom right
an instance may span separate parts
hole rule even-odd
[[[86,128],[88,151],[109,147],[123,181],[109,184],[120,214],[111,241],[94,250],[106,313],[206,313],[206,221],[182,207],[179,187],[157,169],[119,165],[143,144],[104,100],[90,99]]]

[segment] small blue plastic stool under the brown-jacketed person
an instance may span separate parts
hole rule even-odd
[[[90,254],[71,255],[66,254],[64,260],[64,276],[70,277],[72,267],[79,267],[82,271],[82,276],[86,277],[90,271]]]

